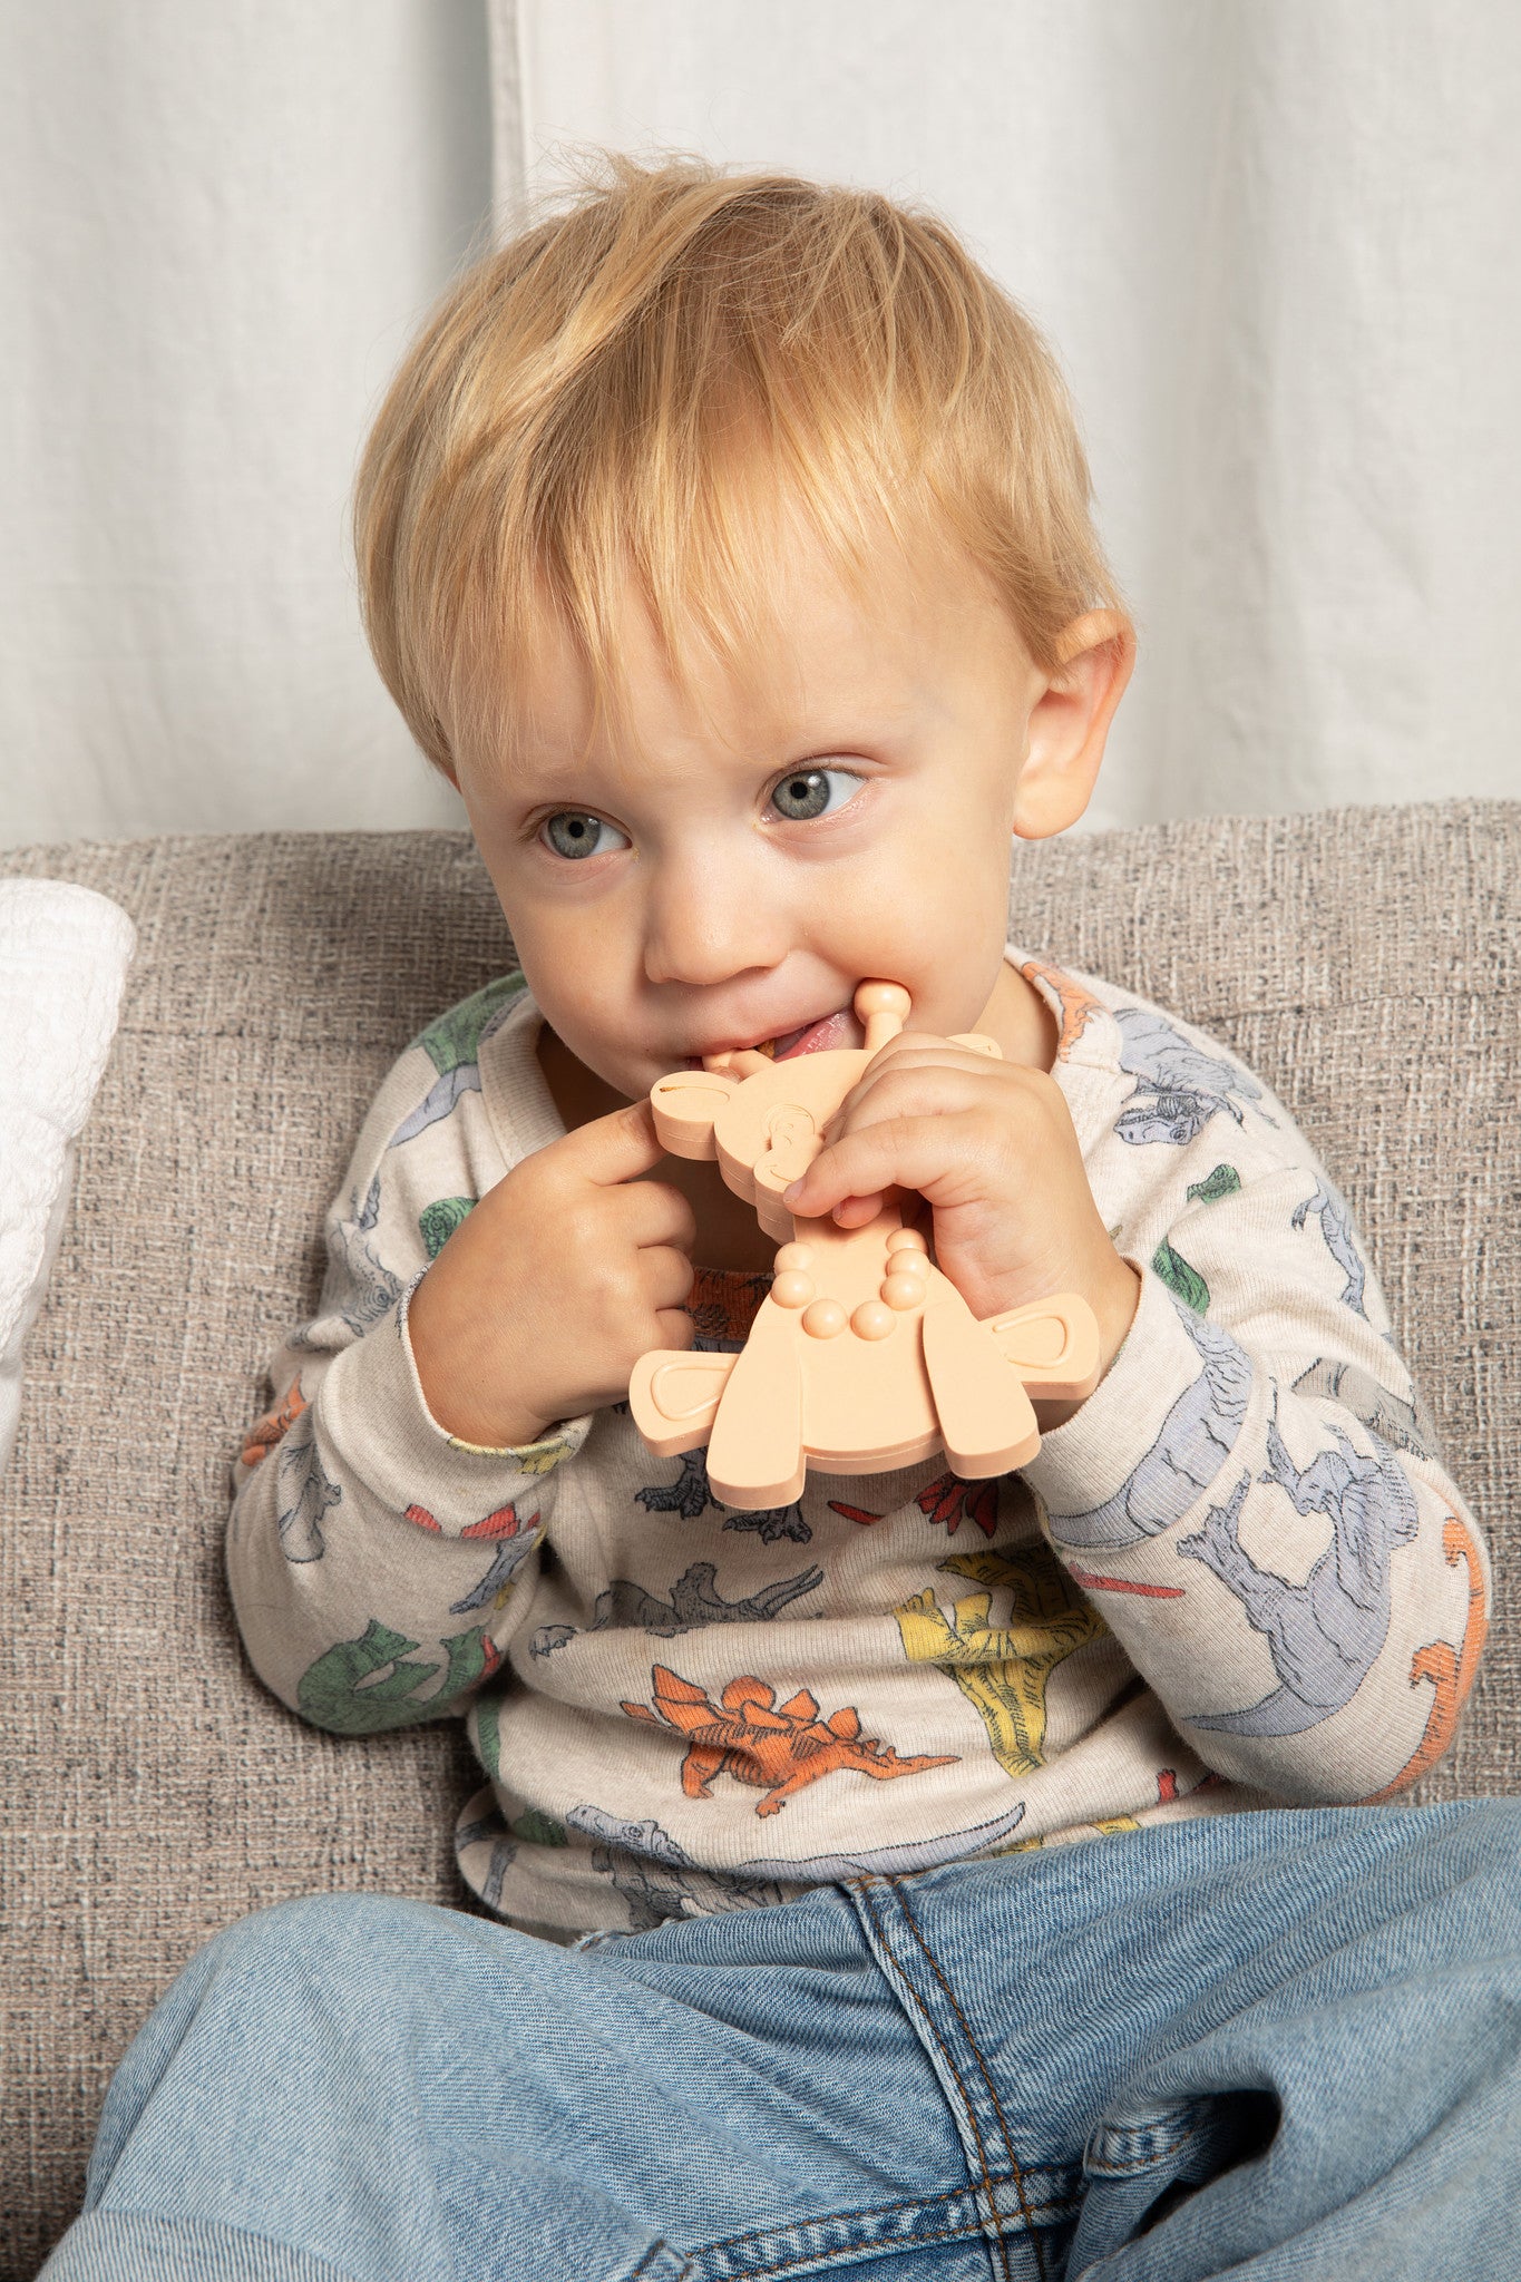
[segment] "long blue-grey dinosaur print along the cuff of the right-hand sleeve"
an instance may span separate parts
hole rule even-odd
[[[1156,1442],[1113,1497],[1088,1513],[1051,1515],[1051,1536],[1063,1545],[1115,1547],[1161,1536],[1197,1504],[1236,1447],[1252,1392],[1252,1362],[1227,1330],[1197,1317],[1177,1294],[1170,1296],[1199,1351],[1199,1376],[1184,1387]]]

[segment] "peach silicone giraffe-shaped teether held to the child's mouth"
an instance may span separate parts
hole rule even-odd
[[[810,1465],[882,1474],[944,1449],[969,1481],[1006,1474],[1040,1449],[1026,1387],[1072,1401],[1099,1376],[1099,1326],[1074,1292],[978,1321],[898,1205],[864,1228],[782,1205],[823,1148],[825,1123],[903,1029],[910,997],[901,984],[867,981],[853,1004],[864,1047],[794,1061],[716,1054],[650,1089],[664,1148],[716,1157],[780,1244],[739,1356],[650,1349],[629,1385],[650,1449],[673,1458],[707,1442],[714,1497],[741,1511],[791,1504]],[[951,1045],[999,1054],[976,1031]]]

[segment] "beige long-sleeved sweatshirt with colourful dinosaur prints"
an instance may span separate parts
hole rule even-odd
[[[465,1716],[463,1876],[561,1935],[821,1880],[1384,1798],[1448,1746],[1487,1556],[1348,1207],[1243,1063],[1126,990],[1008,956],[1060,1020],[1095,1198],[1142,1276],[1038,1458],[812,1474],[730,1511],[627,1403],[527,1449],[447,1435],[406,1303],[559,1139],[511,974],[397,1061],[312,1321],[235,1463],[228,1568],[262,1680],[340,1734]],[[768,1278],[700,1269],[700,1346]]]

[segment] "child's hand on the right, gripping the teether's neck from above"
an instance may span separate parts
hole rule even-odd
[[[782,1193],[789,1212],[832,1212],[839,1228],[860,1228],[917,1189],[935,1214],[935,1262],[974,1317],[1081,1292],[1099,1319],[1108,1369],[1131,1328],[1140,1278],[1099,1219],[1056,1079],[901,1031],[825,1134],[828,1146]],[[1069,1415],[1076,1406],[1060,1408]]]

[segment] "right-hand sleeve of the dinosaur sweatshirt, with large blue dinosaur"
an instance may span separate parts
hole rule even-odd
[[[1104,988],[1060,986],[1095,1004]],[[1106,997],[1120,1084],[1090,1116],[1090,1180],[1142,1296],[1026,1481],[1211,1769],[1295,1803],[1391,1796],[1446,1750],[1473,1680],[1478,1522],[1350,1212],[1282,1104],[1188,1025]],[[1104,1027],[1083,1041],[1092,1111]]]

